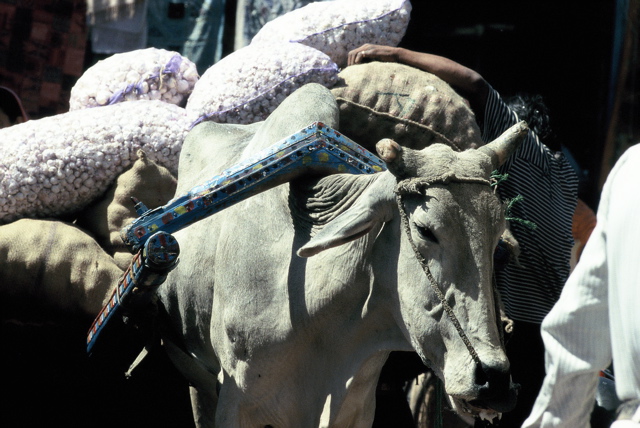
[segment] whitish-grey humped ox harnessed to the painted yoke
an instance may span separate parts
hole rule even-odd
[[[263,123],[194,128],[177,194],[315,121],[336,127],[338,109],[312,84]],[[385,140],[390,171],[299,177],[176,233],[181,262],[161,287],[175,333],[165,343],[192,385],[196,424],[370,427],[392,350],[417,351],[459,410],[510,410],[492,287],[505,220],[486,183],[524,132],[461,153]],[[403,197],[410,236],[462,333],[403,232],[394,191],[416,177]]]

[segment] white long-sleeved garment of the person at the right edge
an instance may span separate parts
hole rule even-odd
[[[588,427],[612,358],[618,397],[640,399],[639,185],[635,145],[609,174],[596,228],[542,323],[547,375],[523,427]]]

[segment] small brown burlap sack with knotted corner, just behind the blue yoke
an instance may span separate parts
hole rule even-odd
[[[132,255],[120,237],[120,230],[138,217],[131,197],[153,209],[173,198],[176,183],[168,169],[140,150],[133,166],[118,177],[104,197],[82,211],[76,223],[93,235],[124,270]]]

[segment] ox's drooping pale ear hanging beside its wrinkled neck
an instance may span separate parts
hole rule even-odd
[[[365,190],[345,212],[327,223],[309,242],[298,250],[298,256],[311,257],[366,235],[376,224],[391,220],[393,216],[396,179],[389,172]]]

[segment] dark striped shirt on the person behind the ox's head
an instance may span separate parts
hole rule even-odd
[[[482,139],[490,142],[518,119],[491,88]],[[503,200],[522,195],[511,217],[529,220],[535,229],[512,221],[520,245],[518,264],[496,272],[507,316],[541,323],[560,297],[570,272],[571,225],[578,198],[578,177],[562,153],[553,152],[531,131],[520,148],[500,168],[508,178],[498,185]]]

